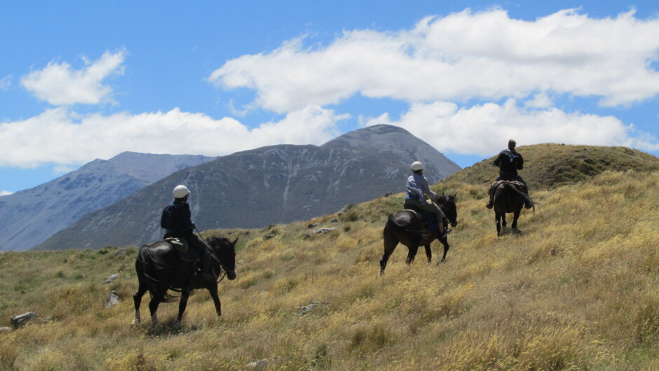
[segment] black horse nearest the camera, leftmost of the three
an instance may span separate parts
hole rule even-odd
[[[226,277],[236,279],[236,242],[229,241],[224,237],[210,237],[206,239],[208,246],[212,248],[213,261],[211,267],[217,275],[224,270]],[[135,260],[135,270],[139,287],[133,295],[135,301],[135,319],[133,325],[140,323],[140,303],[142,296],[149,291],[151,302],[151,322],[158,323],[156,311],[158,305],[164,300],[171,298],[168,290],[179,291],[181,300],[179,302],[179,315],[176,325],[180,327],[183,312],[188,302],[191,290],[205,288],[210,293],[215,303],[215,312],[222,315],[222,309],[217,296],[217,281],[204,281],[198,272],[197,264],[179,258],[179,253],[168,241],[158,241],[154,244],[146,244],[140,247],[140,252]],[[224,278],[224,277],[223,277]]]

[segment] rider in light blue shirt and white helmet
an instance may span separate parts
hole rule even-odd
[[[444,228],[444,212],[442,209],[437,207],[437,205],[432,202],[426,202],[426,196],[430,196],[432,200],[435,200],[437,195],[430,190],[428,186],[428,181],[426,177],[423,176],[423,164],[419,161],[412,162],[410,167],[413,174],[407,178],[407,193],[405,193],[405,204],[403,207],[405,209],[421,209],[423,211],[428,211],[430,214],[434,214],[437,218],[437,225],[440,228],[440,238],[445,237],[451,232],[449,228]]]

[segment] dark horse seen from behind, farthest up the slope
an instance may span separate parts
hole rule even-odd
[[[524,204],[528,202],[533,207],[534,213],[536,212],[536,204],[529,195],[519,190],[514,182],[501,181],[494,185],[496,188],[494,192],[494,220],[496,221],[496,237],[501,237],[501,227],[505,227],[505,214],[512,214],[512,232],[519,234],[517,229],[517,219],[519,213],[522,211]]]

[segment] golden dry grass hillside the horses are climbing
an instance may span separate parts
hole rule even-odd
[[[382,228],[402,194],[341,216],[208,232],[240,237],[238,278],[221,283],[222,318],[208,293],[193,293],[181,332],[177,304],[161,305],[157,328],[129,327],[136,248],[0,254],[0,326],[40,316],[0,333],[0,369],[244,370],[263,359],[271,370],[659,368],[659,172],[536,190],[522,235],[501,238],[484,186],[448,184],[435,189],[458,192],[460,224],[439,266],[423,251],[407,266],[399,246],[379,276]],[[310,223],[337,229],[310,237]],[[111,290],[121,302],[104,309]]]

